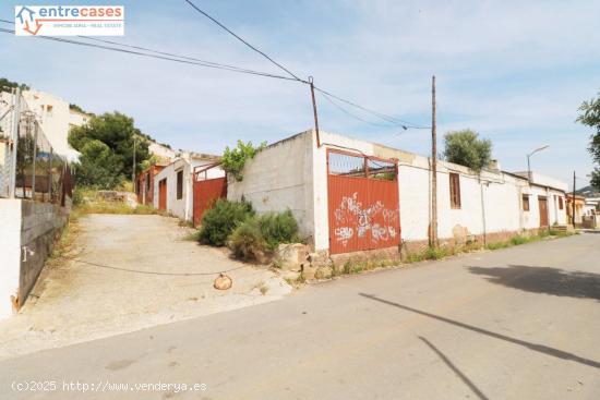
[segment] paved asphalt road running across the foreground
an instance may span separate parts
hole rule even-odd
[[[19,391],[32,383],[48,391]],[[599,399],[600,234],[352,276],[7,360],[0,390],[2,399]]]

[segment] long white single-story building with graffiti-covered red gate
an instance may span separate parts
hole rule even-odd
[[[431,234],[430,158],[313,130],[274,143],[229,177],[227,197],[259,213],[289,208],[317,252],[424,247]],[[497,168],[437,161],[437,238],[489,243],[565,225],[567,185]]]

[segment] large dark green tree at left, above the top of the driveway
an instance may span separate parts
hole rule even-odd
[[[107,186],[109,182],[116,183],[130,179],[133,168],[134,141],[135,171],[141,171],[142,165],[149,158],[148,144],[143,138],[140,130],[135,128],[132,118],[117,111],[106,112],[93,117],[86,125],[71,130],[69,144],[84,154],[82,168],[87,169],[86,178],[77,178],[77,182],[85,185],[111,187]],[[86,148],[89,143],[94,142],[100,142],[107,148],[100,148],[98,143]],[[92,159],[95,156],[109,162],[106,166],[97,162]],[[84,158],[86,165],[84,165]],[[116,167],[119,167],[119,169],[116,169]],[[115,175],[108,179],[107,173]],[[94,174],[96,174],[97,182]]]

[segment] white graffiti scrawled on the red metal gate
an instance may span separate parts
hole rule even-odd
[[[370,233],[371,241],[379,243],[396,238],[396,228],[398,225],[398,213],[385,208],[381,201],[363,207],[358,201],[358,193],[351,196],[341,197],[341,203],[334,211],[334,230],[336,240],[344,246],[348,244],[355,234],[358,238],[364,238]],[[381,218],[376,218],[381,216]],[[376,222],[375,219],[380,220]]]

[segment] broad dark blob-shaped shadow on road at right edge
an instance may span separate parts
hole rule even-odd
[[[490,282],[508,288],[600,301],[600,275],[598,274],[527,265],[468,268],[471,274],[487,276]]]

